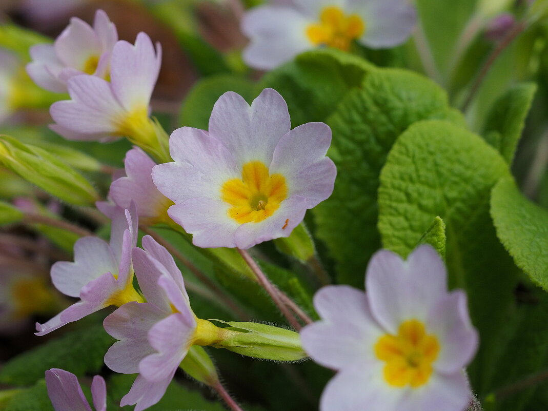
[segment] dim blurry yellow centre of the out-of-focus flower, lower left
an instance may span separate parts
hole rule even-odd
[[[14,318],[48,312],[55,304],[55,296],[41,278],[22,278],[12,285],[15,302]]]

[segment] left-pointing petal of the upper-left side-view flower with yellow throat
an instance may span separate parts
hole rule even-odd
[[[68,80],[72,100],[55,102],[50,114],[60,126],[78,133],[115,133],[117,118],[125,111],[112,94],[110,84],[95,76],[75,76]]]

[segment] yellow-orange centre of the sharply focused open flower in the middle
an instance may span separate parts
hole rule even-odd
[[[238,223],[258,223],[287,199],[286,178],[282,174],[270,175],[260,161],[250,161],[242,167],[242,179],[232,178],[222,185],[221,198],[232,206],[229,216]]]

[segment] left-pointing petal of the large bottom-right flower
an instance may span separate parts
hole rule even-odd
[[[322,321],[305,326],[300,334],[302,346],[315,362],[343,369],[355,362],[376,361],[373,347],[385,333],[371,316],[363,291],[326,286],[316,292],[314,306]]]

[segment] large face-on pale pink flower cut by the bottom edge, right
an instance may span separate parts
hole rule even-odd
[[[377,252],[366,289],[367,295],[346,285],[319,290],[314,305],[322,320],[301,330],[310,357],[339,371],[321,411],[466,409],[471,394],[463,368],[478,335],[464,292],[447,291],[437,252],[423,245],[407,261]]]

